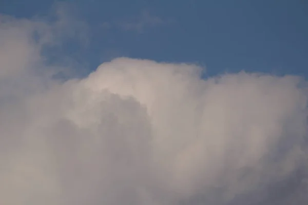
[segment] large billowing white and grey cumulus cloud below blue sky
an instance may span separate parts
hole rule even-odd
[[[0,25],[1,204],[305,204],[304,79],[116,58],[60,81],[52,25]]]

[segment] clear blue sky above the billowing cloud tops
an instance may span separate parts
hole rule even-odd
[[[208,75],[240,70],[308,76],[308,3],[268,1],[67,1],[89,28],[88,46],[65,54],[94,70],[127,56],[197,63]],[[52,0],[2,0],[0,13],[44,16]]]

